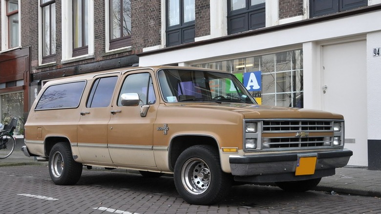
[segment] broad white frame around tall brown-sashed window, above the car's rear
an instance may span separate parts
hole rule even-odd
[[[88,52],[85,55],[72,57],[73,54],[73,5],[72,0],[61,2],[62,11],[62,61],[70,63],[94,56],[94,0],[88,0]],[[56,15],[57,16],[57,15]]]

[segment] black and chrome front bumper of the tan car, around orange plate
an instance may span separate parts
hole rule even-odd
[[[335,169],[348,164],[351,150],[333,150],[305,153],[232,155],[229,158],[234,179],[245,182],[281,182],[306,180],[335,174]],[[316,157],[313,174],[296,175],[300,158]]]

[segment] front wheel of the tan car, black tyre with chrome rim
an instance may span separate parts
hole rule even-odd
[[[221,170],[217,150],[206,145],[184,150],[175,163],[173,177],[177,192],[190,204],[214,204],[232,186],[231,176]]]

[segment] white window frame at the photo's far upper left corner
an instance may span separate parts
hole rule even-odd
[[[1,51],[13,50],[21,47],[21,0],[18,0],[19,3],[19,45],[16,47],[9,48],[9,38],[8,38],[8,17],[7,17],[7,1],[1,0]]]

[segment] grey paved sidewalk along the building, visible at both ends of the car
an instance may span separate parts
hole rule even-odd
[[[26,157],[20,150],[15,150],[8,158],[0,159],[0,167],[24,165],[47,166],[47,162],[37,162],[33,157]],[[351,166],[339,168],[335,175],[323,177],[315,190],[331,194],[381,197],[381,171]]]

